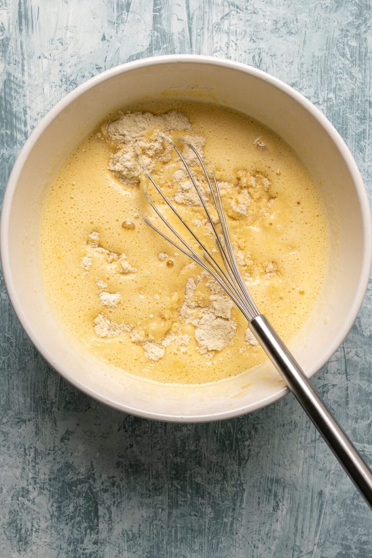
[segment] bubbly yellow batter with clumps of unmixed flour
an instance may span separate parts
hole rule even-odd
[[[148,116],[147,128],[154,128],[144,126],[131,141],[210,248],[194,191],[158,132],[189,137],[215,171],[245,281],[287,341],[305,323],[325,277],[327,224],[317,186],[285,142],[239,112],[180,99],[130,108],[131,117],[113,116],[71,153],[47,192],[40,233],[47,295],[75,338],[126,372],[177,383],[234,376],[264,354],[216,284],[141,219],[146,214],[159,225],[146,189],[176,224],[148,180],[138,180],[128,148],[143,123],[137,111],[170,114],[165,129]],[[176,130],[171,117],[178,118]],[[124,137],[127,120],[133,126]],[[203,187],[200,169],[184,153]]]

